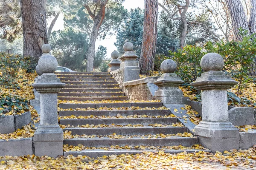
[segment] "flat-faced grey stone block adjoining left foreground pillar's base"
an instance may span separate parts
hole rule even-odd
[[[32,138],[0,140],[0,156],[32,155]]]

